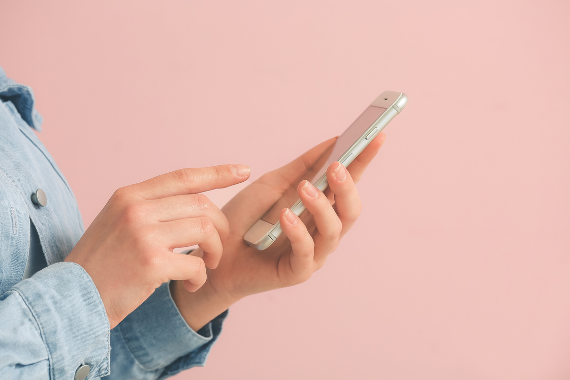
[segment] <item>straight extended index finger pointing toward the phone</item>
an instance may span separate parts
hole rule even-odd
[[[136,183],[132,185],[132,189],[141,198],[157,199],[221,189],[243,182],[249,178],[249,175],[250,168],[247,165],[191,167]]]

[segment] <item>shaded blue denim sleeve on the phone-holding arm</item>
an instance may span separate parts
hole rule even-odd
[[[205,365],[227,316],[223,312],[194,332],[164,283],[111,330],[111,375],[105,379],[164,379]]]

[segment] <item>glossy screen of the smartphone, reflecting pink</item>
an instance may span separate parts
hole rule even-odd
[[[291,207],[298,201],[299,195],[297,194],[297,187],[299,183],[305,179],[311,183],[317,181],[323,174],[326,173],[327,168],[333,162],[338,161],[340,157],[355,143],[360,136],[366,132],[370,125],[374,124],[374,121],[378,120],[378,117],[386,111],[386,108],[374,107],[370,105],[363,113],[360,114],[358,119],[356,119],[343,134],[336,139],[335,143],[324,152],[323,156],[313,164],[309,169],[307,169],[298,179],[293,183],[293,185],[287,189],[281,198],[267,211],[265,215],[261,217],[262,220],[275,224],[279,222],[279,214],[281,210],[285,207]]]

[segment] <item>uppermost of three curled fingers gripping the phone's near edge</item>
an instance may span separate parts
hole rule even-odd
[[[327,181],[335,197],[336,214],[343,225],[340,236],[343,236],[360,215],[362,208],[360,196],[351,174],[340,162],[333,162],[328,167]]]

